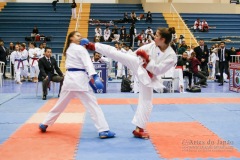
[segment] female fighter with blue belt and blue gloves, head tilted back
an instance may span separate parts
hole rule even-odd
[[[97,104],[97,99],[90,87],[89,81],[94,81],[98,85],[99,83],[101,83],[100,85],[103,84],[94,69],[88,51],[79,45],[80,40],[81,34],[77,31],[73,31],[68,35],[64,51],[67,72],[64,77],[60,98],[42,124],[39,125],[39,128],[42,132],[46,132],[47,127],[57,120],[69,101],[72,98],[79,98],[90,113],[95,127],[99,132],[99,137],[112,138],[115,136],[115,133],[109,130],[108,123],[105,120],[102,109]]]

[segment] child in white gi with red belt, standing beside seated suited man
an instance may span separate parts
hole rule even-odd
[[[41,57],[41,51],[39,48],[36,48],[36,44],[34,42],[31,42],[28,52],[29,52],[30,77],[32,78],[32,82],[37,82],[38,75],[40,72],[38,67],[38,60]]]

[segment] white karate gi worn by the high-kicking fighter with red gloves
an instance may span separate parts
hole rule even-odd
[[[143,61],[140,57],[122,54],[116,48],[100,43],[96,43],[95,48],[97,52],[126,65],[137,76],[139,80],[139,100],[132,123],[140,128],[145,128],[153,107],[153,88],[160,89],[163,87],[160,77],[177,63],[176,53],[171,46],[162,52],[155,45],[155,42],[139,48],[146,51],[150,56],[150,62],[146,69],[154,74],[154,77],[151,79],[148,76],[147,70],[142,67]]]

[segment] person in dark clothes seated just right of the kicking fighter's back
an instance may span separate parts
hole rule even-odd
[[[182,57],[178,60],[177,66],[181,66],[183,69],[183,77],[188,77],[188,88],[192,88],[192,72],[190,71],[190,61],[188,60],[188,53],[184,52]]]

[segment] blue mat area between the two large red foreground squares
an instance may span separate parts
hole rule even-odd
[[[110,129],[116,132],[112,139],[99,139],[87,114],[77,149],[76,159],[86,160],[159,160],[149,140],[134,138],[131,123],[134,112],[130,105],[101,105]],[[113,114],[114,113],[114,114]]]

